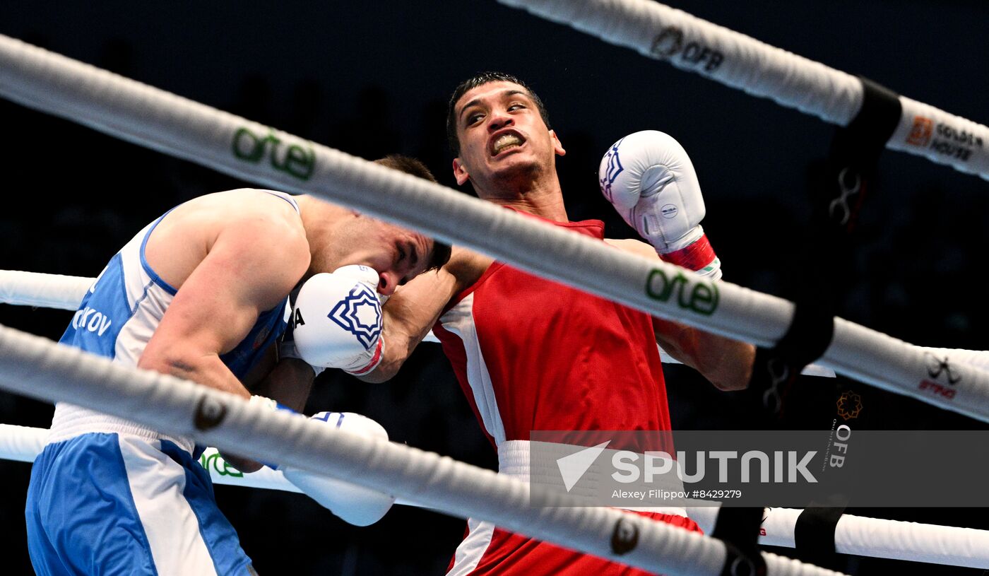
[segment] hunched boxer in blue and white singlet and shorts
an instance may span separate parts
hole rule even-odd
[[[411,171],[407,160],[382,163]],[[128,242],[61,343],[302,411],[315,371],[296,357],[278,359],[272,345],[285,331],[293,288],[315,273],[361,264],[390,295],[448,255],[422,235],[313,197],[210,194]],[[253,574],[198,455],[189,438],[58,403],[25,511],[36,572]],[[243,471],[260,467],[225,456]]]

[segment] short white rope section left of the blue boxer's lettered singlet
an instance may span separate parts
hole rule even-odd
[[[0,304],[75,310],[94,278],[0,270]]]

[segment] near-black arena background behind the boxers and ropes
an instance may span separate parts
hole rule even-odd
[[[961,0],[672,1],[674,8],[774,47],[866,76],[976,122],[989,121],[989,7]],[[4,2],[0,33],[107,68],[291,134],[373,159],[422,159],[455,187],[446,99],[484,70],[513,73],[549,108],[572,220],[602,219],[631,238],[601,198],[597,164],[646,129],[688,151],[704,192],[704,228],[725,279],[792,298],[807,275],[841,274],[839,316],[906,341],[989,348],[981,279],[989,182],[919,156],[883,152],[847,264],[816,257],[810,175],[835,127],[696,74],[605,44],[494,0],[379,2]],[[6,207],[0,268],[95,276],[147,222],[189,198],[247,183],[0,100]],[[989,145],[989,143],[987,143]],[[71,314],[0,306],[0,323],[57,339]],[[551,343],[547,354],[560,353]],[[674,429],[828,430],[836,399],[862,397],[860,430],[967,430],[985,425],[842,378],[804,378],[782,417],[751,394],[722,393],[689,370],[667,371]],[[369,385],[327,371],[309,407],[354,411],[393,440],[487,467],[481,434],[437,344],[399,376]],[[0,422],[47,428],[52,407],[0,393]],[[24,500],[30,466],[0,461],[4,574],[30,574]],[[944,486],[950,489],[949,479]],[[354,528],[309,498],[217,487],[260,574],[442,574],[464,522],[395,507]],[[862,516],[989,528],[985,509],[852,509]],[[793,555],[793,550],[772,549]],[[854,575],[980,570],[841,556]]]

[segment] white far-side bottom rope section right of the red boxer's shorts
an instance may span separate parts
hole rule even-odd
[[[687,508],[705,533],[714,529],[717,507]],[[769,508],[759,543],[796,547],[794,531],[802,510]],[[944,566],[989,568],[989,530],[954,528],[842,515],[835,527],[835,549],[842,554],[930,562]]]

